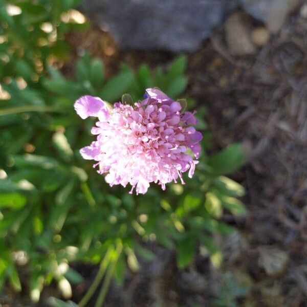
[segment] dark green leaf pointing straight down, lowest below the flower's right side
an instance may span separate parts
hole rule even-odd
[[[195,240],[186,236],[178,242],[177,265],[180,269],[187,267],[193,261],[195,256]]]

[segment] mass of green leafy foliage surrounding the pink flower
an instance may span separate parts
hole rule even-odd
[[[9,3],[22,13],[9,15]],[[139,269],[138,257],[155,258],[146,249],[151,241],[176,249],[180,268],[190,264],[199,248],[219,265],[222,255],[211,234],[233,231],[221,222],[224,211],[246,214],[237,200],[243,187],[223,176],[244,162],[239,145],[208,157],[209,142],[204,138],[193,179],[186,179],[184,186],[169,184],[165,192],[153,185],[139,196],[128,194],[128,188],[109,187],[92,164],[81,159],[79,149],[93,139],[93,120],[81,121],[75,114],[77,98],[87,94],[114,102],[129,93],[122,99],[131,103],[154,86],[177,98],[186,89],[187,58],[179,56],[167,70],[151,71],[142,64],[134,72],[122,65],[117,75],[106,80],[103,62],[84,53],[76,62],[76,77],[67,79],[56,69],[60,60],[69,58],[69,46],[61,39],[68,31],[87,26],[63,15],[77,3],[0,0],[0,82],[9,95],[0,105],[0,170],[8,175],[0,179],[0,288],[8,280],[20,291],[14,255],[21,252],[21,260],[28,263],[34,301],[39,300],[43,284],[52,280],[65,297],[70,283],[82,280],[69,267],[71,262],[103,264],[110,248],[115,253],[119,240],[122,252],[111,255],[108,269],[104,268],[118,282],[127,268]],[[56,31],[57,39],[42,30],[46,27]],[[195,107],[191,100],[180,102]],[[204,112],[198,106],[202,130]],[[50,303],[75,305],[53,298]]]

